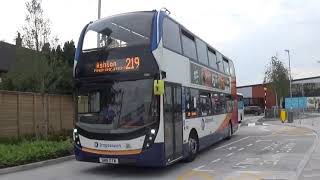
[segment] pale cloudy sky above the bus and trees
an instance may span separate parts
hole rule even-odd
[[[14,43],[25,20],[26,0],[2,2],[0,41]],[[44,16],[50,19],[59,43],[78,41],[89,21],[97,19],[98,0],[42,0]],[[278,56],[292,77],[320,76],[320,11],[318,0],[102,0],[101,17],[159,10],[205,40],[235,63],[237,85],[263,82],[266,66]]]

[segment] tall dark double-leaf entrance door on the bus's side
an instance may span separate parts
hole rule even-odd
[[[166,162],[182,157],[181,85],[166,83],[164,94],[164,142]]]

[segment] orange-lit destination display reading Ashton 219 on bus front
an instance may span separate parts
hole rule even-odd
[[[94,73],[112,73],[138,71],[140,57],[128,57],[124,59],[98,61],[94,67]]]

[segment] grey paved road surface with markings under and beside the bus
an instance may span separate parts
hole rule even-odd
[[[320,178],[316,119],[293,124],[258,121],[247,116],[232,139],[219,142],[200,152],[191,163],[178,162],[166,168],[139,168],[65,161],[5,175],[0,180],[87,180],[87,179],[178,179],[178,180],[251,180]],[[298,123],[298,124],[296,124]],[[318,174],[317,174],[318,173]],[[317,176],[318,175],[318,176]]]

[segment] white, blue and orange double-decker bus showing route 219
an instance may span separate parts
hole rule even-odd
[[[167,11],[87,24],[74,61],[75,157],[167,166],[238,129],[233,62]]]

